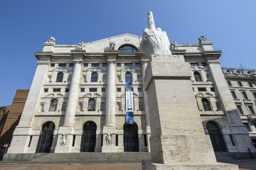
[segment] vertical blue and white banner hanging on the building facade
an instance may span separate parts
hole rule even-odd
[[[133,91],[132,82],[125,82],[126,89],[126,122],[127,124],[134,124],[134,106],[133,106]]]

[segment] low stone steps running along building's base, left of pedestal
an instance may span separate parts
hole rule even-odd
[[[84,153],[36,153],[36,154],[5,154],[4,162],[55,162],[55,163],[114,163],[114,162],[142,162],[151,159],[149,152],[84,152]]]

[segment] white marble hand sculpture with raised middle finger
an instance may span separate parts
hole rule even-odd
[[[151,55],[171,55],[170,42],[165,31],[155,28],[153,13],[147,13],[148,28],[142,31],[141,50],[146,57]]]

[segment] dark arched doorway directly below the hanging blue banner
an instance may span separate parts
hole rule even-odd
[[[139,152],[138,126],[124,124],[124,152]]]

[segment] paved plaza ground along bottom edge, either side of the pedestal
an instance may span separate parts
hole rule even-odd
[[[225,161],[229,164],[238,164],[240,170],[256,170],[256,159],[234,159],[232,161]],[[58,170],[67,170],[67,169],[90,169],[90,170],[142,170],[142,164],[139,162],[131,163],[70,163],[70,164],[48,164],[47,162],[0,162],[1,170],[36,170],[36,169],[58,169]]]

